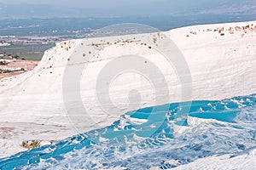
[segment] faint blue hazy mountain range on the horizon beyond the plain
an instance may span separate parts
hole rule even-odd
[[[223,1],[214,5],[196,4],[191,7],[187,4],[182,8],[175,8],[174,3],[145,4],[142,7],[132,6],[127,8],[63,8],[61,6],[38,4],[3,4],[0,3],[0,19],[27,19],[27,18],[73,18],[73,17],[108,17],[108,16],[139,16],[139,15],[184,15],[184,14],[256,14],[256,1],[234,0]],[[228,2],[228,3],[225,3]],[[231,4],[231,5],[230,5]],[[168,6],[169,5],[169,6]],[[165,9],[161,9],[164,8]],[[132,11],[131,11],[132,8]]]

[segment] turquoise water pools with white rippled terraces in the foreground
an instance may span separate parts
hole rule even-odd
[[[218,122],[201,123],[177,138],[172,124],[189,126],[186,117],[176,116],[183,108],[179,104],[168,105],[168,111],[162,108],[166,105],[156,106],[155,112],[153,107],[128,112],[120,117],[123,121],[109,127],[0,159],[0,169],[167,169],[207,156],[239,156],[256,147],[256,94],[193,101],[190,117]],[[148,122],[133,123],[129,117]]]

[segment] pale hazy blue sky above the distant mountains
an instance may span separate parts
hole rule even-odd
[[[54,8],[79,9],[86,15],[162,15],[162,14],[193,14],[193,11],[208,10],[208,8],[223,8],[239,3],[256,0],[0,0],[6,4],[46,4]],[[235,11],[236,11],[235,8]],[[21,8],[22,9],[22,8]],[[17,8],[20,10],[20,8]],[[224,10],[224,9],[223,9]],[[47,12],[47,11],[45,11]]]

